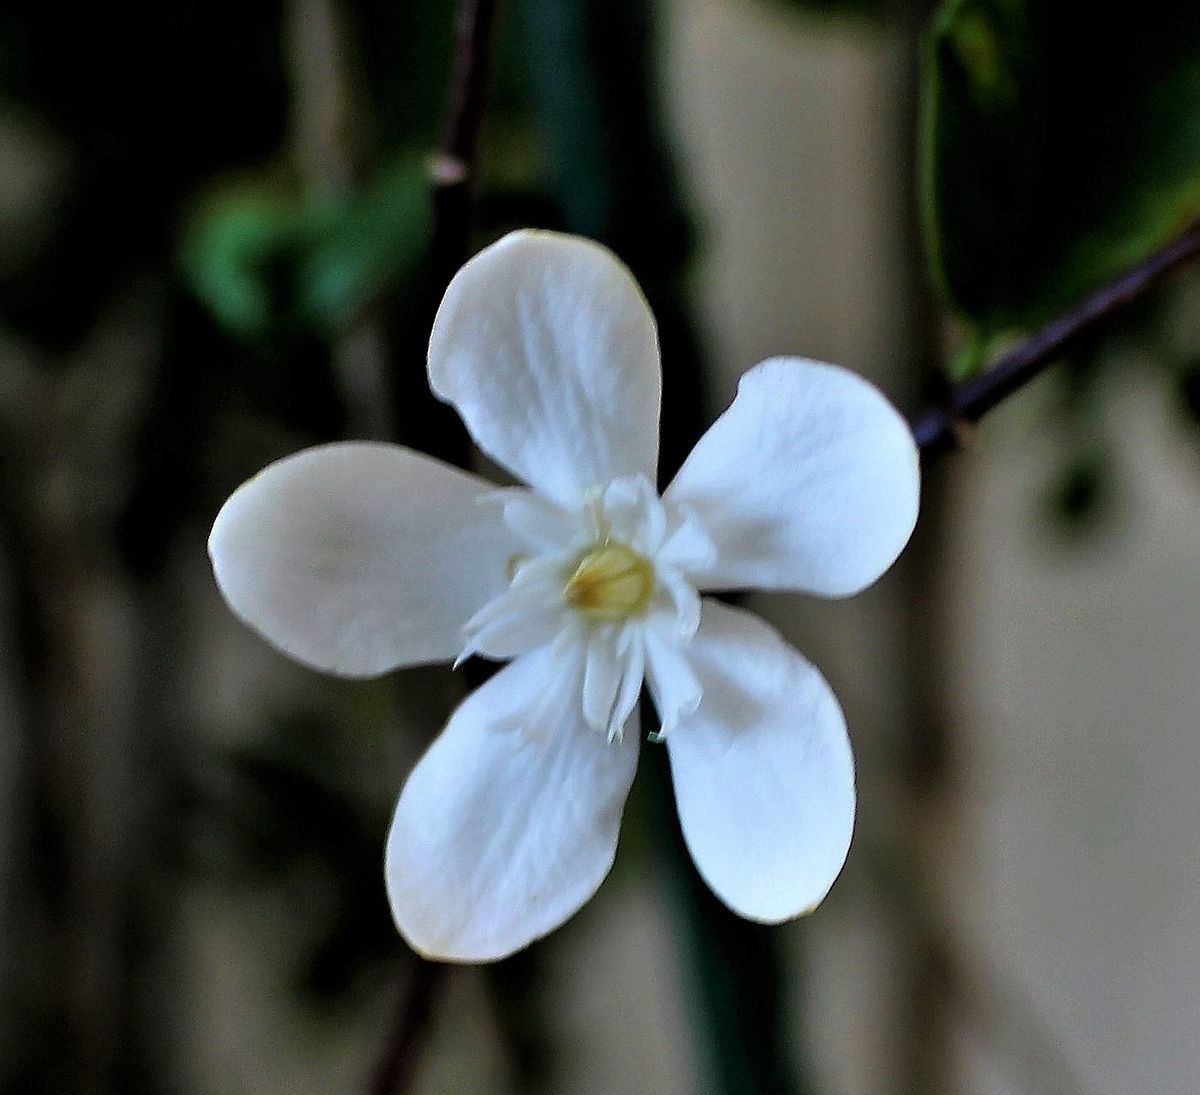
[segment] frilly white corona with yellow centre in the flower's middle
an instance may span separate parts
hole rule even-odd
[[[610,741],[620,740],[644,682],[668,732],[700,702],[684,647],[701,615],[688,573],[713,552],[703,528],[668,510],[644,477],[589,490],[577,510],[532,492],[499,497],[529,554],[514,556],[508,587],[467,622],[462,658],[506,660],[544,647],[570,684],[566,702],[582,704]],[[551,732],[566,718],[534,712],[526,731]]]

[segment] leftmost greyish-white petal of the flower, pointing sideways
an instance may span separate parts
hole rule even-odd
[[[398,445],[306,449],[244,483],[209,538],[229,606],[286,654],[367,677],[449,662],[506,585],[491,484]]]

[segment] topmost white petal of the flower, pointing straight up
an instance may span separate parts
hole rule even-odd
[[[654,480],[654,317],[599,244],[514,232],[481,251],[446,289],[428,364],[479,447],[558,502],[619,475]]]

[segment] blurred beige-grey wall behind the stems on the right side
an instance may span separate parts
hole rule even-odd
[[[769,5],[671,11],[679,143],[707,229],[715,406],[774,353],[840,361],[911,400],[898,43]],[[1121,363],[1130,379],[1110,400],[1124,461],[1115,526],[1075,545],[1046,527],[1039,501],[1058,454],[1038,390],[950,457],[942,484],[953,608],[930,657],[947,659],[956,688],[959,766],[926,843],[931,870],[908,898],[965,977],[950,1090],[1195,1089],[1200,462],[1135,365]],[[859,761],[847,872],[788,929],[815,979],[802,1004],[820,1073],[846,1095],[901,1090],[888,1028],[904,1007],[905,940],[868,862],[872,839],[906,825],[888,785],[908,707],[896,635],[923,606],[899,596],[901,580],[852,603],[769,606],[838,690]]]

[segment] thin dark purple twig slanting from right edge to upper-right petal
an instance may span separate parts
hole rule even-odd
[[[956,448],[964,427],[977,423],[1082,340],[1141,300],[1170,274],[1200,257],[1200,222],[1175,243],[1097,289],[1078,307],[1003,354],[979,376],[952,388],[937,407],[913,421],[912,432],[926,460]]]

